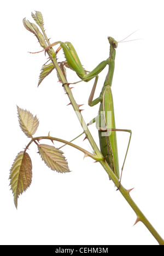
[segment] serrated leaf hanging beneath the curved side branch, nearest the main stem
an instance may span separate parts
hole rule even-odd
[[[51,170],[57,172],[70,172],[68,163],[61,150],[46,144],[38,145],[38,149],[42,160],[51,168]]]

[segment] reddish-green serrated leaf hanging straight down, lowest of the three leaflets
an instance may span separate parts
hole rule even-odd
[[[14,163],[10,169],[10,185],[14,194],[14,203],[17,208],[17,199],[28,187],[32,181],[32,162],[30,156],[21,151],[17,154]]]

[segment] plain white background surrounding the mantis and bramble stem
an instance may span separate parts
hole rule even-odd
[[[116,127],[131,129],[132,141],[122,185],[133,188],[131,196],[157,232],[164,237],[163,222],[163,1],[3,1],[1,3],[1,217],[2,245],[157,245],[142,223],[133,226],[136,214],[99,164],[71,147],[63,151],[71,173],[51,171],[31,145],[33,177],[30,188],[14,206],[9,187],[9,170],[29,139],[20,130],[16,104],[37,114],[37,136],[68,141],[81,133],[79,121],[56,72],[37,88],[44,53],[25,30],[22,19],[33,22],[31,11],[41,11],[50,42],[72,42],[81,63],[91,71],[109,56],[108,36],[124,39],[116,49],[112,85]],[[55,48],[56,49],[56,48]],[[63,60],[63,55],[60,54]],[[68,81],[79,78],[68,72]],[[99,75],[96,96],[101,91],[107,68]],[[93,85],[75,85],[73,95],[86,123],[96,116],[98,106],[87,106]],[[96,127],[90,127],[98,143]],[[84,136],[75,143],[91,150]],[[44,143],[45,141],[43,141]],[[50,142],[49,142],[50,143]],[[120,167],[128,134],[118,133]],[[50,143],[51,144],[51,143]],[[58,147],[58,144],[56,143]]]

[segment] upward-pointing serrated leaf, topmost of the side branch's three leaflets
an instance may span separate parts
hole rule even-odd
[[[21,130],[28,138],[31,138],[31,136],[37,131],[39,125],[37,116],[33,117],[29,111],[19,108],[18,106],[17,114]]]

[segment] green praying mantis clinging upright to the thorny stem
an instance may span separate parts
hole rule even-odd
[[[99,63],[99,65],[96,68],[94,68],[91,72],[88,72],[83,68],[79,60],[79,57],[77,55],[77,52],[75,51],[73,45],[70,42],[63,43],[61,41],[58,41],[53,44],[50,44],[48,48],[46,48],[45,50],[50,49],[54,45],[60,44],[60,47],[57,49],[56,54],[60,49],[63,49],[63,52],[66,57],[66,62],[63,62],[63,63],[65,63],[66,67],[71,68],[73,71],[77,73],[78,77],[81,79],[79,82],[81,81],[89,82],[91,79],[95,78],[95,82],[93,84],[93,88],[89,97],[88,104],[89,106],[93,107],[96,104],[100,103],[100,106],[99,106],[97,118],[94,118],[92,121],[90,121],[88,125],[96,122],[101,153],[104,156],[104,159],[107,161],[110,168],[112,169],[112,171],[114,172],[115,176],[118,179],[120,179],[120,182],[121,182],[122,170],[124,168],[128,148],[130,146],[132,131],[126,130],[126,129],[116,129],[115,127],[114,104],[113,104],[111,86],[112,86],[114,66],[115,66],[115,54],[116,54],[115,49],[118,47],[118,42],[116,42],[116,40],[112,37],[108,37],[108,41],[110,44],[108,59]],[[104,81],[102,91],[99,97],[93,100],[93,96],[95,94],[96,85],[98,81],[98,74],[107,65],[109,66],[108,73]],[[75,82],[73,84],[77,84],[79,82]],[[110,116],[111,118],[110,118],[110,121],[108,121],[110,114],[111,114]],[[118,158],[116,131],[124,131],[124,132],[130,133],[130,138],[128,141],[124,163],[121,168],[121,176],[119,174],[119,158]]]

